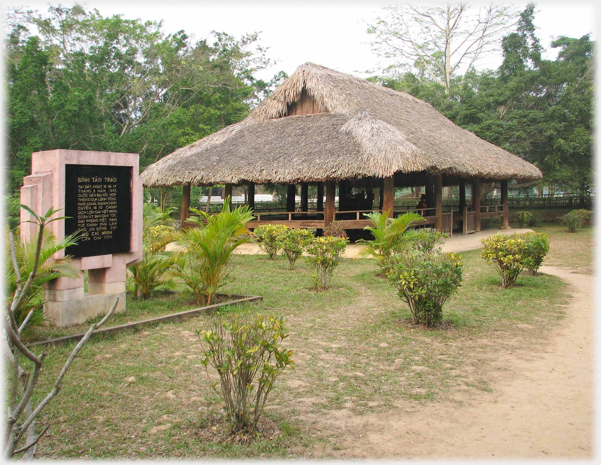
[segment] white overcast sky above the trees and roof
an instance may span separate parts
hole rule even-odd
[[[46,11],[48,1],[20,0],[7,4],[28,5]],[[58,2],[51,2],[56,4]],[[63,1],[63,5],[73,2]],[[240,37],[246,32],[261,31],[260,43],[269,47],[267,55],[278,63],[257,73],[257,78],[269,80],[279,70],[288,75],[307,61],[356,76],[365,77],[365,70],[379,71],[378,59],[368,44],[373,36],[365,33],[364,20],[382,13],[380,5],[391,2],[366,0],[315,0],[284,2],[273,0],[92,0],[79,2],[87,8],[97,8],[103,16],[123,14],[126,19],[163,20],[163,30],[169,34],[184,29],[196,39],[210,36],[210,31],[224,31]],[[424,2],[413,2],[424,3]],[[477,3],[477,2],[474,2]],[[528,2],[508,2],[523,10]],[[555,58],[557,51],[549,48],[552,36],[581,37],[591,32],[597,40],[599,10],[595,2],[539,1],[535,14],[537,36],[548,49],[545,58]],[[482,61],[483,67],[496,68],[501,57]]]

